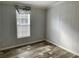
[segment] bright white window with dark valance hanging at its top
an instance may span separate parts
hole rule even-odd
[[[17,38],[30,36],[30,13],[29,11],[19,9],[16,10],[17,19]]]

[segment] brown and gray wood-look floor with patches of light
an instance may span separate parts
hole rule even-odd
[[[0,58],[79,58],[46,41],[0,52]]]

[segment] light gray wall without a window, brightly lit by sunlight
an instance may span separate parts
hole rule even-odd
[[[48,9],[46,37],[79,55],[79,2],[64,2]]]

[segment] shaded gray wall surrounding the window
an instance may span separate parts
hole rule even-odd
[[[7,47],[27,44],[44,39],[45,11],[32,8],[31,13],[31,37],[16,38],[16,12],[14,6],[0,5],[0,50]]]

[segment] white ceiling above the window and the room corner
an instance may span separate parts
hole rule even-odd
[[[4,4],[25,4],[25,5],[30,5],[33,7],[38,7],[38,8],[48,8],[51,4],[55,4],[58,1],[3,1],[0,3]]]

